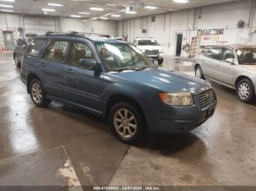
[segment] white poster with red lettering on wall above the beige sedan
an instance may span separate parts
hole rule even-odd
[[[224,28],[198,30],[198,34],[201,36],[201,46],[217,45],[218,42],[222,42]]]

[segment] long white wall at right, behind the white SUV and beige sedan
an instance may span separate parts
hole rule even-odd
[[[118,36],[128,35],[131,42],[136,36],[154,37],[165,47],[167,55],[175,55],[176,34],[183,34],[183,44],[190,44],[192,36],[197,34],[197,29],[225,28],[222,41],[227,44],[256,43],[256,12],[255,7],[251,12],[251,7],[252,0],[245,0],[156,15],[155,23],[151,22],[151,16],[123,20],[118,22]],[[251,29],[250,12],[251,16],[255,12],[251,19]],[[238,29],[238,20],[245,21],[244,28]],[[142,28],[148,29],[148,32],[142,34]],[[183,56],[187,55],[183,52]]]

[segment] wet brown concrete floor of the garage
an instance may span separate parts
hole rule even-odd
[[[193,74],[180,59],[165,58],[163,67]],[[211,82],[214,117],[190,133],[129,146],[91,114],[34,106],[19,73],[12,52],[0,53],[0,185],[256,186],[256,104],[241,103],[234,90]]]

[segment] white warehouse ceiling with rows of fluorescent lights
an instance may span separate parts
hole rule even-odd
[[[102,17],[109,13],[120,12],[125,7],[132,7],[137,14],[118,13],[120,17],[108,16],[110,20],[123,20],[131,17],[140,17],[146,15],[154,15],[162,12],[171,12],[180,9],[189,9],[195,7],[203,7],[212,4],[222,4],[239,0],[190,0],[186,4],[178,4],[173,0],[15,0],[15,2],[1,1],[0,4],[10,4],[15,13],[45,15],[42,8],[56,9],[56,12],[48,12],[50,16],[69,17],[70,15],[81,15],[78,12],[89,12],[90,15],[81,15],[84,19],[93,17]],[[63,7],[49,6],[48,3],[63,4]],[[107,5],[112,4],[112,6]],[[113,6],[115,4],[116,6]],[[159,7],[159,9],[145,9],[145,6]],[[92,11],[90,7],[100,7],[103,11]]]

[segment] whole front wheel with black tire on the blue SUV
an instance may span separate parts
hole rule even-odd
[[[144,118],[137,107],[125,102],[112,107],[109,122],[115,136],[127,144],[139,141],[146,131]]]

